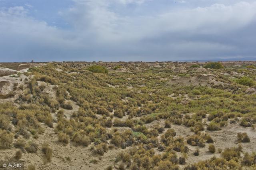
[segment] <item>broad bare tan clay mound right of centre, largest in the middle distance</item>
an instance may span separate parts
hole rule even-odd
[[[211,74],[200,74],[197,77],[174,77],[171,79],[168,84],[169,85],[207,85],[207,84],[216,84],[218,83],[215,80],[215,77]]]

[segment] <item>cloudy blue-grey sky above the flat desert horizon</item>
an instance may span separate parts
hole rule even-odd
[[[0,0],[0,62],[256,57],[256,0]]]

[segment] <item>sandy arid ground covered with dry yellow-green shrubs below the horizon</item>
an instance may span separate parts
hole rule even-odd
[[[255,125],[255,61],[0,63],[0,160],[29,170],[255,170]]]

